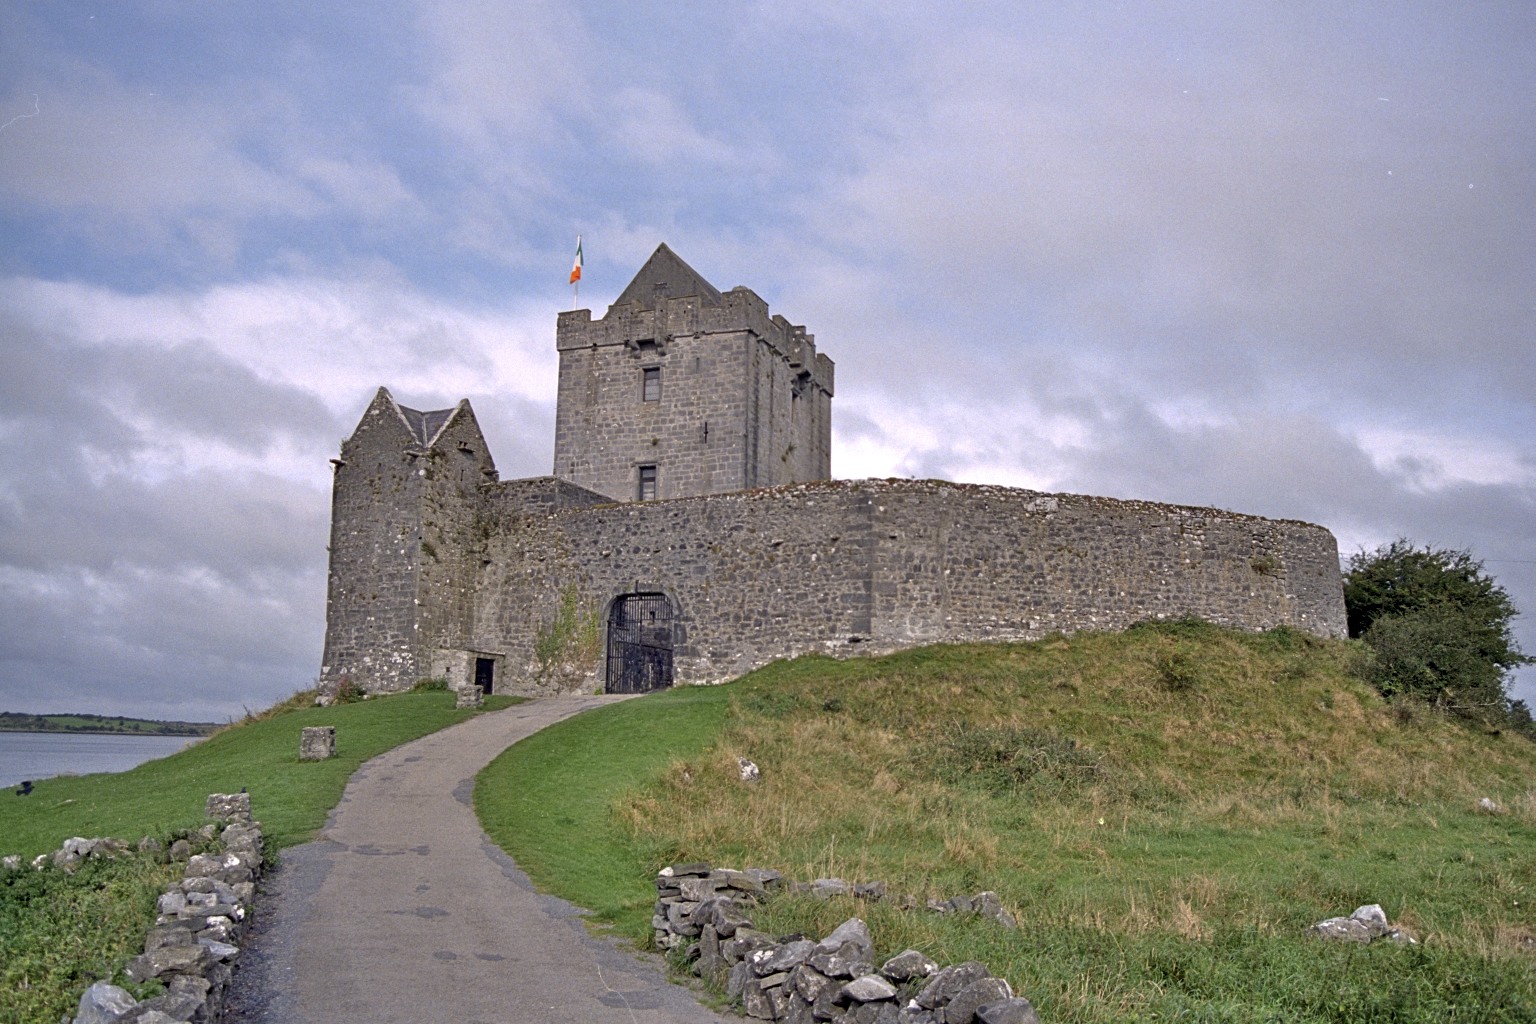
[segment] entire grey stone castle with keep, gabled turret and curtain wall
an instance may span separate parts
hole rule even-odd
[[[501,481],[467,401],[378,390],[332,461],[323,685],[633,692],[1180,616],[1344,636],[1312,524],[829,479],[833,361],[667,246],[556,347],[553,476]]]

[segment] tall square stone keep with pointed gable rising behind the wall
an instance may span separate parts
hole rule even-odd
[[[831,477],[833,361],[660,246],[608,307],[561,313],[554,476],[613,500]]]

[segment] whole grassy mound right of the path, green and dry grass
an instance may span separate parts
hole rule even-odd
[[[1167,623],[799,659],[548,729],[476,804],[536,880],[633,935],[670,861],[994,889],[1017,932],[811,900],[759,923],[863,913],[882,950],[985,960],[1048,1021],[1533,1019],[1536,745],[1390,706],[1355,657]],[[1364,903],[1421,944],[1301,936]]]

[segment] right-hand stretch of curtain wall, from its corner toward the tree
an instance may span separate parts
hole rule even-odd
[[[1344,636],[1338,545],[1321,527],[937,481],[869,494],[883,643],[1037,639],[1181,616]]]

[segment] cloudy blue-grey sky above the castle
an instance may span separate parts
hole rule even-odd
[[[1536,652],[1536,5],[0,5],[0,709],[318,674],[379,384],[550,471],[578,232],[837,362],[833,473],[1468,548]],[[1519,692],[1536,703],[1536,672]]]

